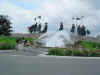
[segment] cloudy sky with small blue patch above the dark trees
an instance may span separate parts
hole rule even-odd
[[[35,16],[42,16],[49,23],[49,31],[56,31],[64,22],[68,31],[72,17],[85,16],[79,22],[85,24],[92,34],[100,33],[100,0],[0,0],[0,14],[9,15],[13,31],[26,33]]]

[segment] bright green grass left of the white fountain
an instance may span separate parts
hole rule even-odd
[[[10,36],[1,36],[0,37],[0,50],[9,50],[16,48],[16,39],[19,37],[10,37]],[[33,43],[35,38],[27,37],[25,40],[29,40],[30,43]]]

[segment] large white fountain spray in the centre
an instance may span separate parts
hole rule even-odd
[[[74,44],[74,40],[66,31],[47,32],[40,36],[36,41],[37,45],[42,47],[59,47],[66,48]]]

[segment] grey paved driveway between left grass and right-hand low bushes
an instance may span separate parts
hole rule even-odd
[[[32,47],[24,47],[19,50],[0,50],[0,55],[26,55],[26,56],[37,56],[39,54],[43,54],[47,52],[48,48],[32,48]]]

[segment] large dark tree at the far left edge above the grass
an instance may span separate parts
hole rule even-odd
[[[11,35],[11,21],[8,16],[0,15],[0,35]]]

